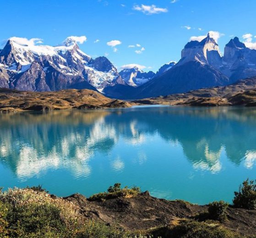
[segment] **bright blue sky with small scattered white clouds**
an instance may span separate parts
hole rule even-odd
[[[54,46],[74,36],[82,51],[119,70],[157,71],[209,31],[222,53],[234,36],[256,49],[255,0],[0,0],[0,9],[0,48],[11,37]]]

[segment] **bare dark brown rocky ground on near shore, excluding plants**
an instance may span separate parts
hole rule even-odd
[[[106,224],[118,224],[131,231],[164,227],[182,219],[197,220],[207,212],[208,206],[191,204],[183,200],[165,200],[152,197],[148,191],[131,198],[118,197],[109,200],[90,201],[83,195],[65,197],[80,207],[89,219]],[[228,219],[221,224],[231,231],[243,235],[256,234],[256,210],[245,210],[229,206]]]

